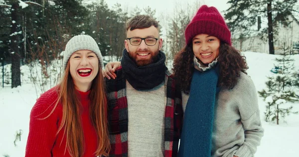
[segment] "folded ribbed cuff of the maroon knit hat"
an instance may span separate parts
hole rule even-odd
[[[185,30],[186,45],[192,42],[192,38],[198,34],[208,34],[231,45],[231,34],[226,25],[211,19],[200,19],[188,24]]]

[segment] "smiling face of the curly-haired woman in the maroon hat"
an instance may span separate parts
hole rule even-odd
[[[203,64],[212,63],[219,56],[220,40],[208,34],[198,34],[192,39],[193,53]]]

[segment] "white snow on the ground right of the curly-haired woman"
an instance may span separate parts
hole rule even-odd
[[[266,76],[270,76],[270,70],[274,67],[277,55],[264,53],[244,52],[248,63],[248,75],[254,81],[257,91],[266,87]],[[299,69],[299,55],[294,56],[295,67]],[[265,129],[261,146],[255,157],[298,157],[299,141],[299,114],[288,116],[280,125],[267,123],[263,120],[266,103],[259,97],[262,125]],[[299,111],[299,102],[293,104],[294,111]]]

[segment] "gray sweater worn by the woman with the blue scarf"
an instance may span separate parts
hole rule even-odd
[[[195,69],[199,71],[207,71],[216,63],[217,60],[208,67],[202,67],[194,59]],[[182,94],[184,111],[188,97]],[[233,89],[219,91],[214,113],[212,157],[253,157],[264,129],[261,126],[257,92],[246,74],[241,73]]]

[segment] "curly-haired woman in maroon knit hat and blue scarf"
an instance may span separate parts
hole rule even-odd
[[[219,11],[201,6],[185,40],[173,63],[183,90],[179,157],[253,157],[264,134],[257,92]]]

